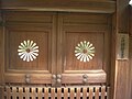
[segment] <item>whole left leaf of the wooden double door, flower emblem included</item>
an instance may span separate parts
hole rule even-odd
[[[3,16],[6,82],[52,84],[56,72],[54,13],[4,12]]]

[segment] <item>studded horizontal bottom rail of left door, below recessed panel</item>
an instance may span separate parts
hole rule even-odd
[[[12,84],[12,82],[18,82],[18,84],[51,84],[51,77],[52,77],[52,75],[50,75],[50,74],[13,74],[13,73],[12,74],[11,73],[4,74],[4,80],[6,80],[6,82],[9,82],[9,84]],[[30,78],[29,82],[28,82],[26,78]]]

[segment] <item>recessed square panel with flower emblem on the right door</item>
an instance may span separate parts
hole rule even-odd
[[[105,35],[97,32],[66,32],[65,70],[98,70],[103,67]]]

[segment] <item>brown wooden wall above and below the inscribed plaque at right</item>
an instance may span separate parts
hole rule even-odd
[[[117,0],[117,34],[129,34],[129,0]],[[114,99],[131,99],[130,58],[128,61],[116,61],[116,63]]]

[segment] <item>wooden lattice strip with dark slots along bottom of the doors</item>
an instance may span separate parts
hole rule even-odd
[[[4,86],[3,99],[109,99],[108,86],[44,87],[44,86]]]

